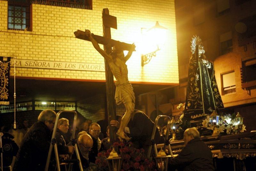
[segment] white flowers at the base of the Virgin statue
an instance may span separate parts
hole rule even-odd
[[[207,128],[209,130],[213,130],[214,126],[210,123],[210,117],[209,115],[203,119],[202,123],[204,128]],[[230,114],[220,116],[219,119],[219,127],[217,127],[218,133],[223,134],[238,134],[246,131],[245,125],[239,125],[236,120],[232,117]]]

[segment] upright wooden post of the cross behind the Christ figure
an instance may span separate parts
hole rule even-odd
[[[108,8],[104,8],[102,16],[108,14]],[[104,23],[104,22],[103,22]],[[103,37],[111,39],[110,27],[103,24]],[[111,52],[111,44],[104,45],[104,51],[108,54]],[[114,77],[105,59],[105,75],[106,75],[106,90],[107,90],[107,108],[108,108],[108,125],[109,125],[109,140],[110,144],[116,141],[116,129],[110,126],[111,120],[116,120],[116,102],[115,102],[115,85]]]

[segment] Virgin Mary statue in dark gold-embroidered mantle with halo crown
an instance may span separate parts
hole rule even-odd
[[[188,89],[184,118],[189,120],[217,113],[223,109],[220,92],[214,75],[213,63],[204,55],[204,46],[198,36],[191,41],[192,56],[188,68]]]

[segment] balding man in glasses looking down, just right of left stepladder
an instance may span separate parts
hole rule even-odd
[[[87,134],[85,131],[79,132],[77,135],[76,143],[78,146],[78,152],[80,155],[80,159],[83,165],[83,168],[86,169],[90,167],[89,163],[89,151],[91,151],[92,145],[93,145],[93,140],[92,137]],[[77,159],[76,154],[74,153],[72,158]],[[73,170],[79,170],[79,165],[75,164],[73,166]]]

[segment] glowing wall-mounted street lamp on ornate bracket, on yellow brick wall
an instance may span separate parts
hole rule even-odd
[[[156,21],[156,25],[154,27],[148,30],[148,35],[150,36],[150,39],[156,44],[157,49],[147,54],[141,54],[142,67],[146,65],[153,56],[156,56],[156,52],[160,50],[159,45],[165,43],[166,30],[168,29],[159,25],[158,21]]]

